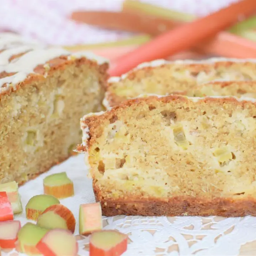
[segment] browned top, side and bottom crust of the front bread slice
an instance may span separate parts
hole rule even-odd
[[[101,115],[87,116],[83,119],[83,123],[89,128],[89,138],[87,145],[78,147],[81,151],[88,151],[95,143],[97,137],[100,136],[98,127],[102,123],[113,118],[117,110],[127,108],[129,106],[139,106],[147,103],[149,106],[154,105],[155,101],[168,103],[170,101],[188,102],[192,99],[180,95],[169,96],[150,96],[146,98],[136,98],[121,103],[113,107]],[[243,108],[250,106],[255,107],[256,103],[253,99],[239,100],[235,97],[205,97],[198,99],[200,102],[217,102],[219,105],[224,103],[232,103]],[[111,194],[106,193],[98,185],[97,180],[93,177],[93,190],[95,199],[101,203],[102,214],[105,216],[115,215],[142,215],[142,216],[212,216],[218,215],[222,217],[241,217],[246,215],[256,216],[256,198],[252,196],[244,196],[244,194],[234,194],[230,196],[210,196],[200,197],[193,196],[175,196],[169,198],[140,198],[129,194],[123,194],[122,198],[111,198]]]

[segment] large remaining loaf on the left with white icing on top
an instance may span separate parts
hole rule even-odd
[[[68,158],[80,117],[100,111],[107,67],[90,53],[0,34],[0,182],[22,184]]]

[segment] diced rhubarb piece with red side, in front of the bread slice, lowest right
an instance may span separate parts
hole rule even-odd
[[[127,250],[128,236],[116,230],[101,230],[90,235],[90,256],[120,256]]]

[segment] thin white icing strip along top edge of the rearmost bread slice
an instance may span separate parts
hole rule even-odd
[[[130,70],[128,73],[125,73],[121,76],[113,76],[108,80],[108,82],[109,83],[119,82],[119,81],[125,79],[130,72],[136,71],[139,69],[143,69],[146,67],[156,67],[156,66],[161,66],[161,65],[165,65],[165,64],[210,64],[210,63],[214,63],[214,62],[238,62],[238,63],[252,62],[252,63],[256,63],[256,59],[209,58],[209,59],[203,59],[203,60],[174,60],[174,61],[167,61],[165,59],[157,59],[157,60],[153,60],[151,62],[141,63],[136,68]]]

